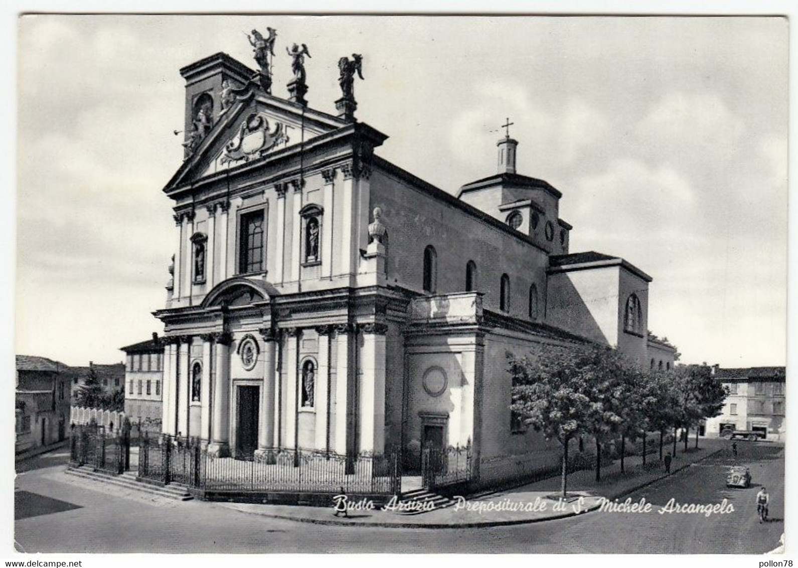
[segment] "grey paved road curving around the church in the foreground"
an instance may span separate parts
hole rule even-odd
[[[762,553],[784,531],[784,448],[740,443],[738,463],[754,487],[727,489],[730,455],[715,456],[630,495],[650,513],[591,512],[571,519],[482,529],[329,527],[267,519],[215,503],[119,495],[62,473],[64,452],[26,463],[17,479],[16,540],[26,552],[577,552]],[[771,495],[771,523],[756,518],[754,495]],[[89,488],[91,487],[91,488]],[[656,512],[678,503],[721,503],[732,513]]]

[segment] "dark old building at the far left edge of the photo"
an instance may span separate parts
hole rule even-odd
[[[69,436],[72,370],[46,357],[17,356],[16,452],[54,444]]]

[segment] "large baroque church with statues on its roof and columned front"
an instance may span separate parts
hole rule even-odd
[[[381,158],[387,136],[354,119],[360,56],[339,62],[333,116],[306,105],[297,49],[290,96],[272,95],[256,39],[259,71],[225,53],[180,70],[186,155],[164,187],[174,258],[155,312],[164,433],[255,460],[399,451],[407,470],[423,448],[468,445],[488,481],[559,456],[512,420],[508,350],[595,341],[673,364],[646,333],[651,278],[570,252],[562,194],[516,172],[516,140],[452,195]]]

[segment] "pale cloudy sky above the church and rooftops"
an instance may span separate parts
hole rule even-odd
[[[243,32],[306,43],[310,106],[362,53],[358,119],[377,154],[456,193],[496,168],[563,192],[571,252],[650,274],[649,327],[683,362],[784,365],[784,18],[54,16],[18,19],[17,353],[121,361],[162,330],[175,241],[161,191],[182,161],[179,69]]]

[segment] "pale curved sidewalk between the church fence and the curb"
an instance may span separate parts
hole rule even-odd
[[[726,447],[725,440],[701,440],[701,449],[689,449],[682,453],[681,444],[677,448],[671,474],[689,467],[691,463],[704,460]],[[666,448],[666,452],[668,448]],[[655,460],[657,454],[648,456]],[[429,511],[421,515],[402,515],[395,511],[359,510],[350,511],[349,519],[335,517],[332,508],[301,507],[293,505],[259,505],[253,503],[215,503],[248,513],[272,519],[288,519],[301,523],[323,525],[351,525],[370,527],[409,527],[409,528],[467,528],[497,527],[522,523],[537,523],[552,519],[563,519],[592,511],[599,507],[601,497],[620,499],[632,491],[646,487],[658,479],[667,477],[664,468],[649,471],[642,469],[642,458],[626,458],[626,472],[620,471],[620,460],[602,467],[602,480],[595,481],[595,471],[577,471],[568,475],[568,493],[581,495],[582,499],[569,499],[568,503],[558,503],[553,497],[559,492],[559,477],[543,479],[506,491],[478,495],[453,507]],[[552,498],[553,497],[553,498]],[[559,507],[555,507],[559,505]],[[480,511],[481,509],[481,511]],[[533,510],[534,509],[534,510]]]

